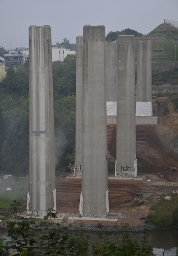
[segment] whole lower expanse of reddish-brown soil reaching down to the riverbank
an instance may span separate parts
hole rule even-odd
[[[176,190],[176,183],[142,182],[125,180],[108,180],[109,187],[109,213],[121,214],[117,222],[101,222],[102,225],[120,228],[121,223],[129,223],[130,227],[143,224],[140,217],[146,217],[149,213],[150,200],[155,200],[159,193]],[[57,212],[66,213],[66,219],[78,214],[81,192],[81,178],[64,178],[56,184]],[[142,196],[137,196],[141,193]],[[75,223],[98,225],[98,221],[77,221]]]

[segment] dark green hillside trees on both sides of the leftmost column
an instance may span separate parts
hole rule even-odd
[[[73,161],[75,148],[75,56],[53,63],[56,170]],[[28,173],[29,67],[9,67],[0,83],[0,168],[6,174]]]

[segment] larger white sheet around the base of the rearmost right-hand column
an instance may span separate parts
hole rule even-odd
[[[152,102],[136,102],[136,116],[153,116]]]

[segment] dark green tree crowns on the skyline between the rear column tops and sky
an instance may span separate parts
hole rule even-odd
[[[143,36],[143,34],[138,33],[137,31],[131,30],[131,29],[125,29],[125,30],[115,31],[115,32],[110,31],[106,36],[106,41],[107,42],[115,41],[120,35],[134,35],[135,37]]]

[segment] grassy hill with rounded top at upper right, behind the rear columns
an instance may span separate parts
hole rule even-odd
[[[137,53],[138,41],[152,41],[152,61],[153,62],[172,62],[178,61],[178,30],[169,24],[160,24],[156,29],[143,37],[135,38],[135,51]],[[137,54],[136,54],[137,55]]]

